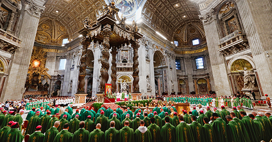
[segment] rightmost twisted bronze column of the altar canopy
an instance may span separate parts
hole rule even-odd
[[[132,41],[131,46],[133,47],[133,93],[140,93],[139,91],[139,62],[138,62],[138,42]]]

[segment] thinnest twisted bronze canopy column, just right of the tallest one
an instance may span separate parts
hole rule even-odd
[[[111,91],[112,93],[116,92],[116,54],[117,54],[117,48],[112,47],[111,49]]]

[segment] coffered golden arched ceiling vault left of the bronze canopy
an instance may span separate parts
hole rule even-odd
[[[70,38],[76,38],[87,16],[93,21],[102,14],[104,0],[48,0],[42,18],[60,22],[68,30]],[[58,12],[57,12],[58,11]]]

